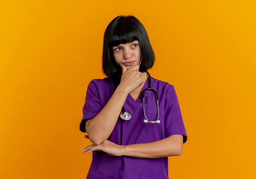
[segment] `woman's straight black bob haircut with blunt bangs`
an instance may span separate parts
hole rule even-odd
[[[113,47],[132,41],[139,41],[140,59],[139,71],[145,72],[155,63],[155,54],[148,39],[145,27],[134,16],[117,16],[108,24],[104,33],[102,52],[102,70],[110,79],[119,78],[121,68],[117,65]]]

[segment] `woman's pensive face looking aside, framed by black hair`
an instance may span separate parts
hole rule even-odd
[[[135,40],[127,44],[119,44],[113,47],[113,54],[117,64],[125,65],[126,69],[139,65],[140,48],[139,41]],[[120,66],[121,67],[121,66]]]

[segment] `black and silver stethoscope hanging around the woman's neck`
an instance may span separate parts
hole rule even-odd
[[[147,74],[148,74],[148,78],[149,78],[149,83],[148,83],[148,88],[144,89],[142,94],[141,94],[141,97],[142,97],[142,104],[143,104],[143,111],[144,111],[144,116],[146,119],[144,119],[144,122],[147,123],[160,123],[160,120],[159,120],[159,103],[158,103],[158,94],[157,92],[151,88],[151,76],[150,74],[148,73],[148,71],[145,71]],[[116,84],[115,84],[115,88],[116,88]],[[144,96],[145,96],[145,92],[149,90],[151,92],[153,92],[155,94],[155,97],[156,97],[156,101],[157,101],[157,120],[156,121],[151,121],[147,118],[146,116],[146,112],[145,112],[145,105],[144,105]],[[120,118],[123,119],[123,120],[130,120],[132,118],[132,115],[130,113],[128,113],[125,108],[124,108],[124,105],[122,107],[122,113],[120,114]]]

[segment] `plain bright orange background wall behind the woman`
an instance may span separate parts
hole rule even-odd
[[[1,1],[0,178],[85,179],[79,131],[103,33],[135,15],[188,134],[170,178],[256,178],[256,1]],[[142,122],[142,121],[141,121]]]

